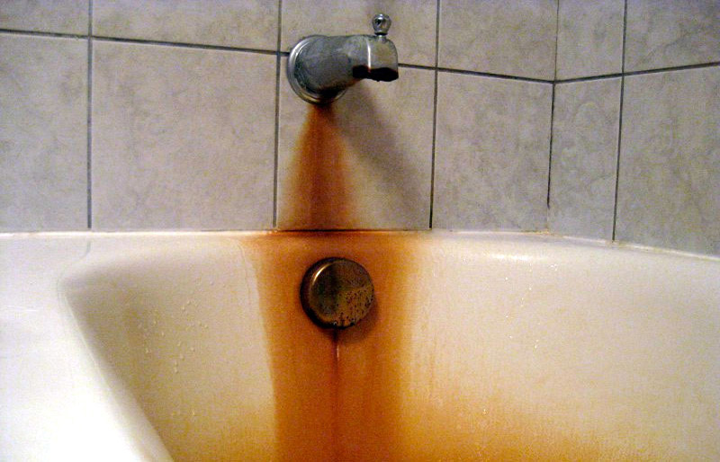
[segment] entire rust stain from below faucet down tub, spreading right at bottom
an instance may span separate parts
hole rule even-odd
[[[284,224],[331,229],[352,222],[346,155],[332,108],[311,106],[281,200]],[[442,402],[410,396],[415,387],[446,383],[430,364],[441,347],[418,344],[411,332],[422,293],[416,281],[428,277],[419,262],[427,243],[422,233],[313,231],[276,232],[243,244],[256,269],[269,342],[279,460],[648,458],[644,450],[618,452],[599,437],[555,428],[552,416],[528,412],[511,394],[481,404],[451,385],[434,390]],[[365,266],[375,288],[370,315],[338,333],[312,324],[299,295],[304,272],[329,257]],[[406,361],[414,355],[428,357],[427,373],[409,374]],[[490,417],[482,411],[488,403]]]

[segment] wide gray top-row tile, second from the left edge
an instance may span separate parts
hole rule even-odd
[[[277,0],[94,0],[93,32],[105,37],[277,48]]]

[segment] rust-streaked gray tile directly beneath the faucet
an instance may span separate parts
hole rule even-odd
[[[433,88],[432,71],[401,68],[319,109],[283,69],[278,227],[427,228]]]

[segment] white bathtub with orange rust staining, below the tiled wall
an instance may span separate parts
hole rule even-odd
[[[328,331],[298,291],[365,266]],[[0,459],[720,459],[720,259],[461,232],[0,236]]]

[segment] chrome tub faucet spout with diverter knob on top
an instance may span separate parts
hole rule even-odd
[[[325,104],[364,78],[397,79],[398,50],[387,38],[391,23],[390,16],[380,13],[373,18],[375,35],[311,35],[300,40],[287,62],[295,93],[307,102]]]

